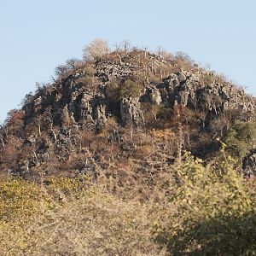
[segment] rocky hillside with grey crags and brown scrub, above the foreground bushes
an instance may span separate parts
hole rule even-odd
[[[149,156],[149,165],[169,163],[178,148],[207,155],[218,148],[212,120],[225,113],[232,113],[229,122],[255,120],[255,108],[252,96],[218,74],[192,64],[184,70],[177,60],[145,51],[78,61],[26,96],[22,132],[2,131],[2,170],[26,177],[54,169],[96,176],[110,160]],[[10,137],[15,158],[6,156]],[[73,171],[60,163],[72,163]]]

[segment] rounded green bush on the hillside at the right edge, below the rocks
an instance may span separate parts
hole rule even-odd
[[[236,121],[231,126],[224,143],[228,146],[230,154],[236,157],[243,157],[249,149],[253,148],[256,140],[256,122]]]

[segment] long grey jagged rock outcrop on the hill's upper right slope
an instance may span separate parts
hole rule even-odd
[[[205,81],[207,79],[207,81]],[[255,99],[245,91],[228,82],[219,82],[214,73],[183,71],[173,73],[160,84],[163,102],[177,100],[178,104],[192,109],[222,113],[239,109],[243,112],[255,111]]]

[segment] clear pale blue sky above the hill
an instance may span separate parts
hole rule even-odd
[[[187,52],[256,95],[255,0],[0,0],[0,120],[94,38]]]

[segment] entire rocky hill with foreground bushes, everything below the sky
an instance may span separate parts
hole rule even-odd
[[[0,125],[0,254],[256,255],[255,99],[182,52],[83,53]]]

